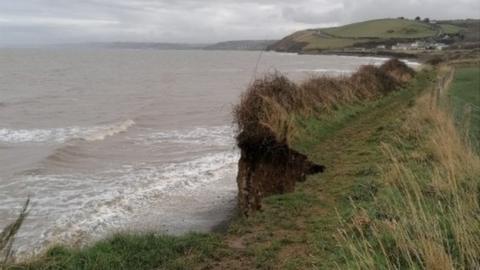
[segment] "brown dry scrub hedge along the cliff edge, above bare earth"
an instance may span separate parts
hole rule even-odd
[[[256,80],[234,108],[240,148],[289,145],[295,119],[335,111],[342,105],[375,100],[403,86],[414,76],[405,63],[392,59],[380,67],[365,65],[347,77],[311,77],[300,84],[275,73]]]

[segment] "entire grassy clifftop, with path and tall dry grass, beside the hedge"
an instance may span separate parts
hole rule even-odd
[[[289,144],[325,173],[225,234],[121,234],[6,268],[475,269],[478,157],[430,99],[436,79],[426,69],[383,98],[293,119]]]

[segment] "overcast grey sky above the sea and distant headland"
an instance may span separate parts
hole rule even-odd
[[[479,18],[478,0],[0,0],[0,45],[277,39],[385,17]]]

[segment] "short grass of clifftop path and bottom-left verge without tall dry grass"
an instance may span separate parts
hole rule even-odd
[[[309,176],[293,193],[266,198],[261,212],[237,218],[225,235],[117,235],[82,249],[56,247],[10,269],[345,269],[349,259],[336,238],[341,220],[355,214],[352,201],[369,215],[384,214],[374,200],[383,194],[380,142],[392,140],[405,110],[434,77],[424,70],[382,100],[299,120],[295,147],[326,172]]]

